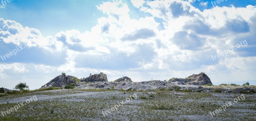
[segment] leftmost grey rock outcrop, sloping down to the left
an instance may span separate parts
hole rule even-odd
[[[42,86],[42,88],[47,88],[47,87],[64,87],[65,85],[71,84],[71,83],[76,83],[75,80],[72,80],[74,77],[73,76],[64,76],[60,75],[58,77],[55,77],[52,79],[50,82]]]

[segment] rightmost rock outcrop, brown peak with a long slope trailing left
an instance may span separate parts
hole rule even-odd
[[[205,85],[205,84],[212,84],[211,79],[205,74],[193,74],[188,76],[187,78],[171,78],[169,81],[171,82],[184,82],[190,85]]]

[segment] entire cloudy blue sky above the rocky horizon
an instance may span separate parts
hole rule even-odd
[[[8,0],[9,1],[9,0]],[[255,0],[0,1],[0,87],[62,72],[256,85]]]

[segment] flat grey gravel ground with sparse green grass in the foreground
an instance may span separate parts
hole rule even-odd
[[[255,94],[243,94],[244,100],[241,99],[212,117],[210,111],[215,111],[229,101],[233,102],[234,98],[241,94],[176,91],[78,89],[41,91],[0,97],[0,111],[10,110],[17,103],[25,102],[33,96],[38,100],[10,114],[6,113],[6,116],[1,114],[0,120],[255,121],[256,119]]]

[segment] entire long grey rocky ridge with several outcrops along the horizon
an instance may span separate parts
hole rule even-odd
[[[77,83],[77,80],[73,79],[73,76],[64,76],[60,75],[52,79],[49,83],[42,86],[42,88],[46,87],[64,87],[67,84],[75,83],[76,88],[83,89],[94,89],[94,88],[115,88],[115,89],[136,89],[136,90],[154,90],[154,89],[168,89],[171,86],[176,85],[184,85],[184,86],[193,86],[193,85],[205,85],[212,84],[210,78],[204,74],[193,74],[187,78],[172,78],[168,82],[167,81],[145,81],[145,82],[133,82],[129,77],[121,77],[116,79],[114,82],[108,82],[107,75],[104,73],[94,74],[89,77],[78,79],[80,83]],[[87,82],[87,84],[83,83]]]

